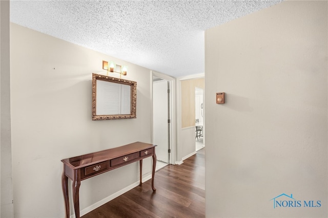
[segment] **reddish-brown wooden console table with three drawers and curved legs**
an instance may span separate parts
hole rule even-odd
[[[155,146],[143,142],[134,142],[128,145],[111,148],[61,160],[64,163],[61,185],[63,186],[66,218],[70,217],[70,203],[68,198],[68,178],[72,180],[73,203],[75,217],[80,217],[79,211],[79,187],[82,180],[89,179],[101,173],[116,169],[118,167],[140,161],[140,183],[142,184],[142,159],[153,157],[152,189],[154,187],[154,176],[156,168]]]

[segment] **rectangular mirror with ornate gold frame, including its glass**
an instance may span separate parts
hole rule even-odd
[[[137,82],[92,74],[92,120],[136,118]]]

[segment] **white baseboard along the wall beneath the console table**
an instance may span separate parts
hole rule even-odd
[[[149,175],[145,178],[142,178],[142,183],[150,180],[151,178],[152,178],[152,175]],[[137,181],[137,182],[135,182],[135,183],[133,183],[133,184],[131,184],[131,185],[129,185],[129,186],[127,186],[127,187],[125,187],[125,188],[123,188],[123,189],[121,189],[121,190],[119,190],[119,191],[117,191],[117,192],[115,192],[111,195],[109,195],[108,197],[94,203],[93,205],[90,205],[89,207],[86,207],[85,209],[80,211],[80,216],[83,216],[83,215],[91,212],[92,210],[100,207],[101,205],[106,204],[107,202],[117,198],[119,195],[124,194],[125,192],[130,191],[131,189],[137,187],[138,185],[139,185],[139,181]],[[75,213],[70,215],[70,218],[75,218]]]

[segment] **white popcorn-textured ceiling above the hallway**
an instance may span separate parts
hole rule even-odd
[[[279,2],[11,0],[10,20],[180,77],[204,72],[204,30]]]

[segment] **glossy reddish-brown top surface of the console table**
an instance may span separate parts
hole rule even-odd
[[[65,163],[66,165],[70,166],[73,169],[77,169],[88,165],[96,164],[99,162],[118,158],[121,156],[125,156],[140,150],[149,149],[155,146],[157,145],[144,143],[144,142],[134,142],[120,147],[110,148],[107,150],[101,150],[86,155],[63,159],[61,160],[61,162]]]

